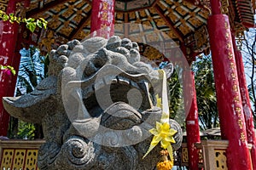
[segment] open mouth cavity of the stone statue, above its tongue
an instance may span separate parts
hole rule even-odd
[[[155,101],[154,88],[147,74],[129,73],[114,65],[104,65],[95,75],[82,81],[67,82],[65,87],[66,95],[63,96],[67,99],[63,100],[69,104],[67,112],[73,110],[74,122],[102,116],[106,109],[118,102],[130,105],[140,113],[152,108]],[[70,104],[73,104],[72,108]],[[141,117],[137,113],[135,116]],[[125,118],[125,115],[121,117]]]

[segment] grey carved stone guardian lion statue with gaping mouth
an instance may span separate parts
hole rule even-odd
[[[136,42],[113,36],[73,40],[49,53],[49,77],[31,94],[5,97],[10,115],[42,124],[41,170],[154,169],[156,149],[143,159],[148,129],[160,119],[157,71],[140,61]],[[177,150],[182,132],[177,122]]]

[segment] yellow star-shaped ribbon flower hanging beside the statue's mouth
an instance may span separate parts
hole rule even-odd
[[[177,133],[176,130],[170,128],[169,123],[164,122],[156,122],[156,128],[152,128],[149,130],[150,133],[154,134],[154,137],[150,143],[148,152],[145,154],[145,156],[148,155],[148,153],[154,149],[154,147],[157,144],[161,144],[161,147],[164,149],[167,149],[169,152],[169,156],[172,158],[172,143],[175,143],[175,140],[173,139],[173,135]],[[143,158],[145,157],[143,156]]]

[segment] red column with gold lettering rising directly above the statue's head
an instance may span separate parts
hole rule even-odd
[[[93,37],[114,34],[114,0],[92,0],[90,32]]]

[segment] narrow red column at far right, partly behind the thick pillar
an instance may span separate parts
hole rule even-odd
[[[236,40],[234,33],[232,34],[233,47],[236,59],[237,76],[239,81],[239,88],[241,93],[241,104],[242,110],[245,117],[246,127],[247,127],[247,141],[248,144],[252,144],[253,148],[251,150],[253,167],[256,169],[256,138],[254,133],[254,123],[253,123],[253,112],[250,104],[250,98],[247,89],[247,80],[245,77],[244,66],[242,62],[241,52],[236,47]]]

